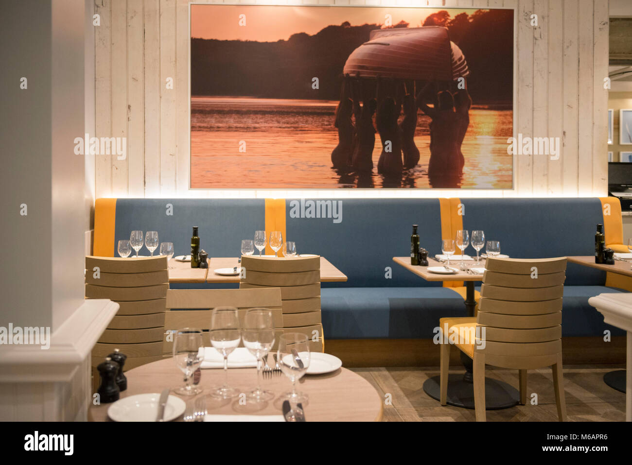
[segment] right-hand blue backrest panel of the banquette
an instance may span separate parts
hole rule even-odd
[[[463,228],[482,229],[513,258],[594,255],[599,198],[462,198]],[[475,253],[470,247],[470,253]],[[484,250],[483,250],[484,251]],[[605,273],[568,263],[566,285],[603,285]]]

